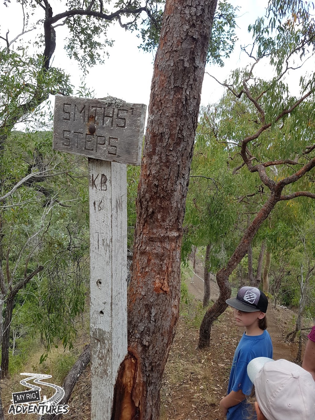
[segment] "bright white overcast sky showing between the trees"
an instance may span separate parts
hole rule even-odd
[[[60,8],[58,0],[51,0],[50,3],[54,13],[66,10],[64,6]],[[247,27],[249,23],[254,23],[258,16],[262,16],[265,13],[268,0],[230,0],[230,3],[240,7],[237,13],[239,17],[236,19],[238,25],[236,32],[239,40],[236,42],[231,58],[225,60],[226,65],[223,68],[215,65],[206,67],[206,71],[213,74],[220,81],[224,81],[232,69],[245,66],[248,63],[248,57],[246,54],[241,53],[240,47],[252,42],[252,37],[248,34]],[[39,9],[41,10],[41,8]],[[15,0],[11,1],[8,8],[1,1],[1,36],[5,36],[7,29],[10,29],[9,39],[21,32],[22,14],[20,11],[21,5],[17,5]],[[58,27],[56,32],[57,46],[53,57],[53,65],[61,67],[71,74],[71,82],[77,88],[81,77],[79,66],[75,60],[70,60],[67,57],[63,48],[65,45],[66,27]],[[110,56],[108,59],[105,59],[104,65],[98,65],[90,69],[85,83],[91,89],[95,89],[95,97],[112,95],[127,102],[145,103],[148,105],[154,60],[152,53],[144,53],[140,50],[137,47],[140,41],[136,38],[136,34],[125,31],[119,25],[112,26],[108,31],[108,36],[111,39],[115,39],[114,46],[108,49]],[[262,68],[263,66],[262,64],[260,71],[263,71],[265,74],[268,71],[270,72],[268,66]],[[205,74],[202,85],[202,105],[208,105],[219,100],[222,94],[223,88]]]

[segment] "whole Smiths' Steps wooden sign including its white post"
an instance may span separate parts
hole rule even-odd
[[[56,97],[53,148],[89,158],[91,420],[110,420],[127,353],[126,163],[141,161],[146,105]]]

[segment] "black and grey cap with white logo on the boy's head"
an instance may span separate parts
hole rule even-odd
[[[244,286],[239,289],[236,297],[226,299],[226,303],[232,308],[243,312],[266,313],[268,308],[268,299],[264,292],[257,287]]]

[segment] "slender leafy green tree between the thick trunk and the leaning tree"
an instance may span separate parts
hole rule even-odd
[[[231,243],[235,241],[237,207],[241,207],[236,199],[240,185],[226,167],[228,149],[224,144],[216,144],[207,124],[207,111],[202,110],[196,133],[182,244],[184,262],[192,246],[206,247],[204,307],[210,298],[210,269],[216,270],[226,262]]]

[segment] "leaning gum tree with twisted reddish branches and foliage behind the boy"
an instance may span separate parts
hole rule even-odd
[[[230,105],[218,115],[218,137],[234,142],[234,168],[260,178],[265,202],[226,266],[216,275],[220,295],[202,320],[199,347],[209,346],[212,323],[226,309],[225,301],[231,295],[228,278],[275,205],[298,197],[315,198],[313,184],[308,182],[315,166],[314,74],[302,74],[297,97],[290,94],[284,80],[290,70],[302,66],[303,60],[314,62],[315,22],[310,5],[302,1],[270,2],[267,22],[259,19],[249,29],[255,37],[248,53],[252,63],[234,71],[231,80],[222,83],[227,89],[225,101]],[[255,76],[263,58],[268,58],[275,69],[270,80]],[[294,60],[302,61],[297,65]],[[277,169],[278,175],[274,168],[281,168]]]

